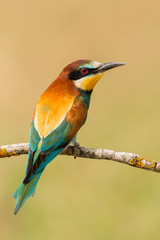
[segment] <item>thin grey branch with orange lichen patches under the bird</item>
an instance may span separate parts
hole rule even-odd
[[[28,143],[12,144],[0,147],[0,158],[28,154]],[[154,172],[160,172],[160,162],[148,160],[140,157],[138,154],[116,152],[107,149],[85,148],[78,146],[68,146],[61,152],[62,155],[70,155],[83,158],[92,158],[99,160],[112,160],[125,163],[133,167],[146,169]]]

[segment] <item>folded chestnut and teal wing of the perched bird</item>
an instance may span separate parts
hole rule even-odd
[[[28,183],[40,173],[72,140],[87,116],[86,104],[81,98],[76,98],[72,108],[66,114],[62,123],[46,137],[41,137],[34,125],[31,124],[30,152],[24,183]]]

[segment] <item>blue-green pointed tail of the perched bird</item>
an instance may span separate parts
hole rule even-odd
[[[20,186],[18,187],[18,189],[15,191],[15,193],[13,194],[13,197],[16,199],[16,207],[14,210],[14,214],[17,214],[19,209],[23,206],[23,204],[29,197],[34,196],[35,191],[36,191],[36,186],[37,186],[37,183],[38,183],[38,180],[39,180],[41,174],[42,174],[42,172],[37,174],[27,184],[24,184],[22,182],[20,184]]]

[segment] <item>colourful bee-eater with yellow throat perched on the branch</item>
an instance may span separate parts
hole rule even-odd
[[[92,91],[104,72],[124,64],[92,60],[72,62],[42,93],[31,121],[25,176],[13,194],[14,214],[34,196],[45,167],[67,145],[78,145],[77,132],[86,121]]]

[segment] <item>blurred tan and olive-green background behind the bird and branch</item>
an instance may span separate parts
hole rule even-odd
[[[160,2],[1,1],[0,145],[28,142],[40,94],[78,59],[125,61],[92,95],[82,146],[160,160]],[[160,239],[160,175],[59,156],[13,216],[27,156],[0,160],[0,238]]]

